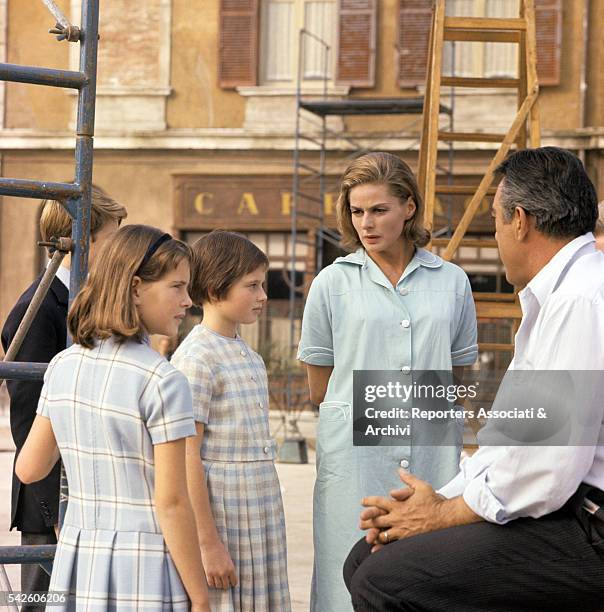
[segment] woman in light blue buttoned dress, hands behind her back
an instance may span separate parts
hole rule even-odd
[[[412,381],[418,370],[461,370],[478,355],[470,283],[421,248],[429,232],[410,168],[389,153],[358,158],[342,178],[337,214],[343,245],[356,250],[314,279],[298,350],[320,406],[313,612],[352,610],[342,567],[362,536],[360,500],[400,488],[399,467],[438,488],[459,465],[456,423],[456,443],[353,446],[353,371],[398,370]]]

